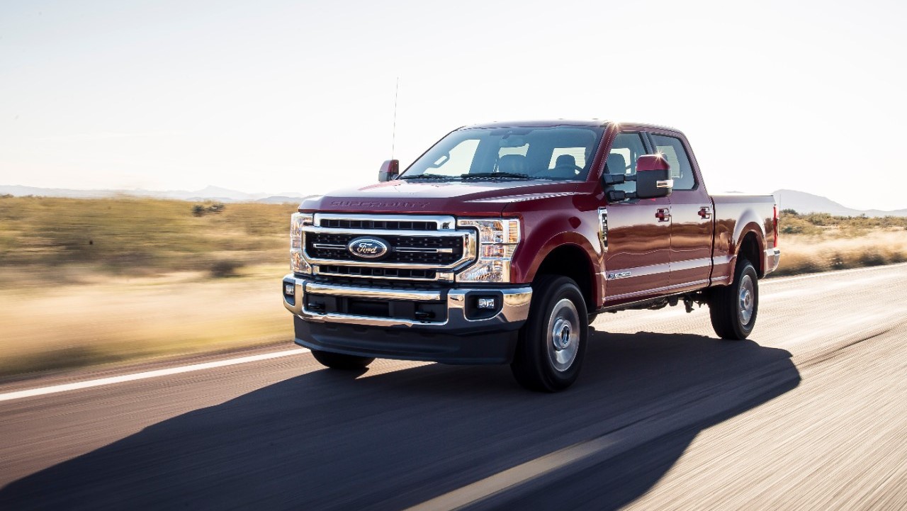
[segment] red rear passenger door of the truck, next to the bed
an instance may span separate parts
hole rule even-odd
[[[649,140],[671,166],[670,286],[672,291],[707,285],[712,272],[712,200],[699,179],[689,144],[680,133],[652,131]]]

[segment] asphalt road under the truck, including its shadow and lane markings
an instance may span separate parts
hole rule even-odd
[[[0,401],[0,509],[907,509],[907,266],[761,285],[746,341],[603,315],[560,394],[302,353]]]

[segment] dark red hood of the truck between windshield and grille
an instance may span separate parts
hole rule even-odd
[[[310,197],[299,211],[348,213],[425,213],[498,216],[513,201],[543,200],[571,194],[580,182],[397,180]]]

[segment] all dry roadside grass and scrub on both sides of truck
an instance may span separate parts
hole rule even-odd
[[[0,196],[0,381],[289,345],[297,204]],[[907,260],[907,219],[781,216],[792,275]]]

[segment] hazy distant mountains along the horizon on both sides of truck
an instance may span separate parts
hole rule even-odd
[[[266,202],[284,203],[300,202],[307,196],[297,192],[281,192],[274,195],[268,193],[246,193],[229,190],[219,186],[206,186],[201,190],[188,192],[185,190],[69,190],[63,188],[35,188],[33,186],[0,185],[0,195],[6,193],[21,197],[24,195],[37,195],[43,197],[71,197],[76,199],[97,199],[102,197],[115,197],[117,195],[132,195],[136,197],[154,197],[158,199],[176,199],[179,201],[221,201],[221,202]],[[854,210],[838,202],[820,195],[797,192],[795,190],[778,190],[773,193],[780,207],[795,210],[799,213],[831,213],[841,216],[907,216],[907,209],[897,211],[880,210]]]

